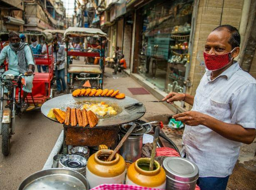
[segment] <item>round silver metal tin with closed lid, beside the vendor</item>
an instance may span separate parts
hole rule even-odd
[[[195,163],[180,157],[164,159],[166,190],[195,190],[198,168]]]

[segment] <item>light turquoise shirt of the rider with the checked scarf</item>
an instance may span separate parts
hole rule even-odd
[[[30,48],[28,45],[25,45],[24,47],[25,51],[25,57],[28,65],[35,65],[34,60],[33,60],[33,55],[31,53]],[[13,71],[12,73],[14,75],[19,75],[18,71],[18,59],[16,53],[9,47],[9,45],[5,46],[3,50],[0,53],[0,65],[4,62],[5,58],[8,57],[9,59],[9,65],[8,69],[10,71]]]

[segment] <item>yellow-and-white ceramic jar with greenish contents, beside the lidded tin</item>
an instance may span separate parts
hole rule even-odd
[[[125,184],[148,188],[165,189],[166,175],[164,169],[155,161],[153,171],[148,171],[150,158],[140,158],[127,170]]]

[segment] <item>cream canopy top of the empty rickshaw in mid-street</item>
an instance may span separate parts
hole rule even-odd
[[[64,32],[64,38],[69,37],[87,37],[98,35],[99,37],[107,37],[105,32],[102,32],[99,28],[80,28],[80,27],[69,27]]]

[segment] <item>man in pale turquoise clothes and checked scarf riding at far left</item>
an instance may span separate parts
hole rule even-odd
[[[0,65],[3,64],[6,57],[9,59],[8,70],[3,75],[13,74],[18,76],[20,74],[30,75],[33,74],[35,68],[35,61],[33,58],[33,52],[29,45],[25,42],[20,42],[20,36],[17,32],[11,31],[9,33],[10,44],[5,46],[0,53]],[[28,93],[32,92],[33,87],[33,75],[25,76],[25,82],[23,82],[23,97],[22,108],[28,107],[25,102],[25,98]]]

